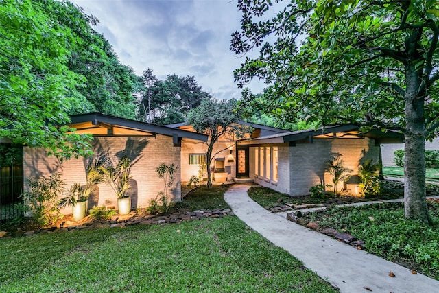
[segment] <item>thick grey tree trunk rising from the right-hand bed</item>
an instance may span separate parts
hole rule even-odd
[[[424,95],[419,93],[420,76],[414,67],[407,66],[405,72],[405,218],[431,224],[425,200]]]

